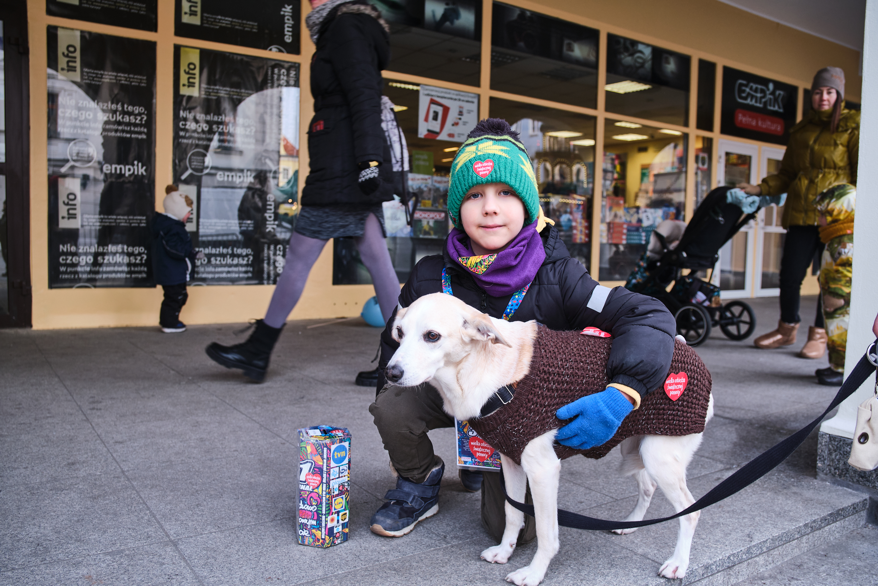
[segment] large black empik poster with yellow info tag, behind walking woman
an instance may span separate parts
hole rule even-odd
[[[174,179],[196,284],[273,285],[298,207],[299,64],[174,47]]]

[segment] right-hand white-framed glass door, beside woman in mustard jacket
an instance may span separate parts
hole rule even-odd
[[[781,170],[783,148],[762,147],[759,156],[759,177],[765,178]],[[776,297],[781,294],[781,254],[787,230],[781,227],[783,207],[768,206],[759,210],[756,220],[756,258],[761,264],[757,275],[756,296]]]

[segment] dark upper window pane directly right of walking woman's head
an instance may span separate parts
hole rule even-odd
[[[370,0],[390,25],[387,69],[479,85],[480,0]]]

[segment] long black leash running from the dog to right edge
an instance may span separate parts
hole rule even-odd
[[[869,351],[871,350],[872,346],[869,347]],[[860,362],[854,367],[853,373],[847,377],[845,384],[838,389],[838,394],[835,395],[835,398],[821,416],[781,441],[781,443],[774,445],[774,447],[769,448],[766,452],[762,452],[759,456],[747,462],[735,474],[732,474],[727,479],[717,484],[708,494],[702,496],[688,509],[681,510],[676,515],[660,519],[648,519],[646,521],[608,521],[606,519],[586,517],[585,515],[572,513],[569,510],[558,509],[558,525],[591,531],[630,529],[633,527],[644,527],[646,525],[664,523],[665,521],[670,521],[671,519],[694,513],[696,510],[702,510],[705,507],[709,507],[711,504],[719,503],[724,498],[728,498],[739,490],[750,486],[753,482],[758,481],[759,478],[770,472],[774,467],[777,467],[784,459],[787,459],[789,454],[795,452],[795,448],[802,445],[805,438],[810,435],[810,432],[817,427],[826,414],[832,409],[838,407],[838,405],[847,397],[851,396],[854,391],[860,388],[860,385],[865,382],[869,375],[874,372],[875,365],[869,362],[868,357],[864,356],[863,358],[860,358]],[[507,503],[514,506],[515,509],[521,510],[523,513],[534,517],[534,505],[519,503],[509,498],[506,494],[506,483],[503,481],[502,470],[500,470],[500,486],[503,487],[503,496],[506,496]]]

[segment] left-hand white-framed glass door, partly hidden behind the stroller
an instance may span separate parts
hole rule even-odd
[[[759,147],[737,141],[718,141],[716,183],[734,186],[756,183]],[[726,242],[719,251],[719,271],[714,271],[714,282],[722,289],[722,299],[752,297],[753,251],[755,248],[753,222]]]

